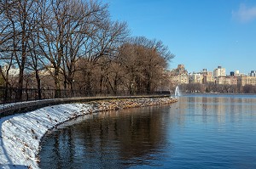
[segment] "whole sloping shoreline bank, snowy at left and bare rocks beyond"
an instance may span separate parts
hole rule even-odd
[[[0,167],[39,168],[38,153],[44,134],[81,115],[175,102],[177,99],[170,97],[108,99],[88,103],[51,105],[20,115],[3,117],[0,119]]]

